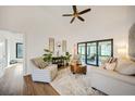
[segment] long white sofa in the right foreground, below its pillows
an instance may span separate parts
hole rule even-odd
[[[91,67],[91,87],[110,96],[135,96],[135,76]]]

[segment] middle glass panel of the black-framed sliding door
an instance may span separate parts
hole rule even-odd
[[[87,64],[97,65],[97,43],[87,43]]]

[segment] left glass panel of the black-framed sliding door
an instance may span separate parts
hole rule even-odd
[[[85,63],[85,60],[86,60],[86,58],[85,58],[85,52],[86,50],[85,50],[85,43],[79,43],[78,45],[78,54],[79,54],[79,56],[81,56],[81,61],[83,62],[83,63]]]

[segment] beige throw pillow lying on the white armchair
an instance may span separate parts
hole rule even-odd
[[[48,66],[48,63],[45,62],[42,58],[35,58],[35,59],[32,59],[32,61],[39,68],[45,68]]]

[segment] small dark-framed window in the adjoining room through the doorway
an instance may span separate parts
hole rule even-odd
[[[23,59],[23,43],[16,43],[16,59]]]

